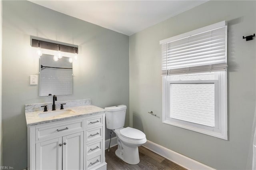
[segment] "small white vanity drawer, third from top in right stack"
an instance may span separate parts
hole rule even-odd
[[[102,140],[86,145],[87,160],[102,154]]]

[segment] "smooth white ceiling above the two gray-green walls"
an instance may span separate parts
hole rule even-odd
[[[208,0],[29,0],[63,14],[132,35]]]

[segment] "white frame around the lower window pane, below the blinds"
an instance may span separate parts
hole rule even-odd
[[[171,76],[171,75],[169,75]],[[216,71],[215,79],[217,80],[202,80],[202,81],[172,81],[168,80],[168,76],[162,77],[162,122],[176,127],[186,128],[202,134],[207,134],[217,138],[228,140],[227,128],[227,71]],[[178,120],[171,118],[170,115],[170,84],[171,83],[188,83],[188,82],[214,82],[214,111],[215,111],[215,126],[210,127],[198,123]],[[217,92],[217,94],[216,94]],[[216,96],[217,95],[217,96]],[[217,100],[218,99],[218,100]]]

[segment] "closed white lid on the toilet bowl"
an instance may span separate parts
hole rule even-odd
[[[131,127],[121,129],[120,134],[125,138],[131,138],[135,140],[140,140],[146,137],[142,131]]]

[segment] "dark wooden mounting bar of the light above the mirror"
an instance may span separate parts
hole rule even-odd
[[[61,43],[52,43],[52,42],[32,39],[32,42],[31,42],[32,47],[38,47],[38,44],[40,44],[41,48],[44,48],[44,49],[51,49],[56,51],[59,51],[60,49],[60,51],[63,51],[63,52],[78,54],[78,47],[74,47],[74,46],[72,47],[69,45],[63,45]]]

